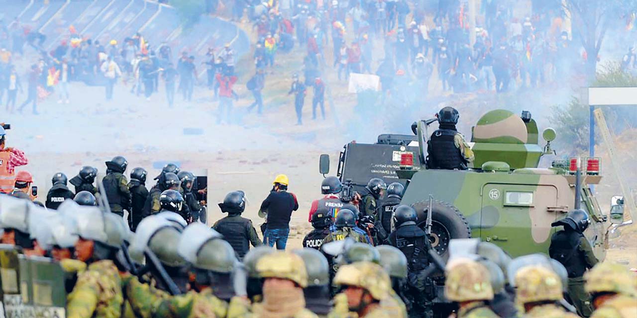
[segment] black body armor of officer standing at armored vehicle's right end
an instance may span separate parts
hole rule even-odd
[[[582,233],[562,230],[551,238],[548,254],[566,267],[569,278],[582,277],[586,272],[586,263],[578,251],[582,237]]]

